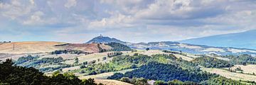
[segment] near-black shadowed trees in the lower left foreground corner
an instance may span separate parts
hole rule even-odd
[[[55,72],[45,76],[33,67],[18,67],[11,60],[0,64],[0,84],[6,85],[97,85],[94,79],[80,80],[74,74]]]

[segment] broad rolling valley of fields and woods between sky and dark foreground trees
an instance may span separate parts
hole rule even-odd
[[[256,81],[253,50],[243,51],[248,55],[238,52],[227,55],[224,47],[178,42],[149,42],[149,45],[90,42],[4,43],[0,45],[0,60],[12,59],[17,66],[36,68],[48,77],[55,72],[74,74],[79,79],[92,78],[97,84],[107,85],[150,84],[150,81],[167,84],[176,83],[176,79],[183,84],[218,84],[223,80],[231,84],[239,81],[255,84]]]

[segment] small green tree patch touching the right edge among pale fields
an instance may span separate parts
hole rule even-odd
[[[231,64],[256,64],[256,57],[251,55],[225,55],[221,57],[228,58]]]

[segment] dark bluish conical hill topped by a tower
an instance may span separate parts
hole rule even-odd
[[[97,43],[110,43],[110,42],[118,42],[123,45],[127,45],[127,42],[117,40],[116,38],[110,38],[110,37],[104,37],[102,35],[97,36],[95,38],[92,38],[92,40],[89,40],[86,42],[87,44],[92,43],[92,42],[97,42]]]

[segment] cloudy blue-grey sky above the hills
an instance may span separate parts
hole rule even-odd
[[[255,0],[0,0],[0,41],[176,41],[255,22]]]

